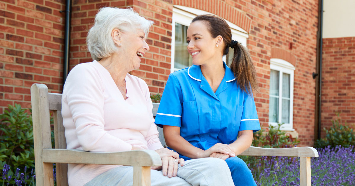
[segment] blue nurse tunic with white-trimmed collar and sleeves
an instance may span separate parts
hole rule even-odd
[[[237,86],[231,69],[223,65],[225,74],[216,92],[203,77],[200,66],[171,73],[155,124],[179,126],[180,135],[202,150],[216,143],[233,143],[239,131],[260,130],[253,97]]]

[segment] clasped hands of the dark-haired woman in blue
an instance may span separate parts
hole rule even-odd
[[[203,151],[200,154],[201,158],[210,157],[210,158],[220,158],[220,159],[227,159],[229,157],[235,157],[235,153],[230,147],[230,145],[223,144],[223,143],[216,143],[211,148]]]

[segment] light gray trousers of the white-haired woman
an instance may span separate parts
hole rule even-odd
[[[234,186],[227,163],[219,158],[200,158],[179,164],[176,177],[151,170],[152,186]],[[84,186],[132,186],[133,167],[121,166],[106,171]]]

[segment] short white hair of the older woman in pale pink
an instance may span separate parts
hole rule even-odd
[[[90,28],[86,44],[93,60],[111,56],[118,47],[115,46],[111,32],[117,28],[123,33],[135,32],[141,29],[146,35],[154,22],[138,15],[131,7],[119,9],[103,7],[95,16],[94,26]]]

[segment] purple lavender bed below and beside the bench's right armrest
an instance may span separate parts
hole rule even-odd
[[[317,149],[319,157],[311,159],[311,185],[355,185],[354,146]],[[258,186],[300,185],[300,159],[295,157],[263,157],[252,169]]]

